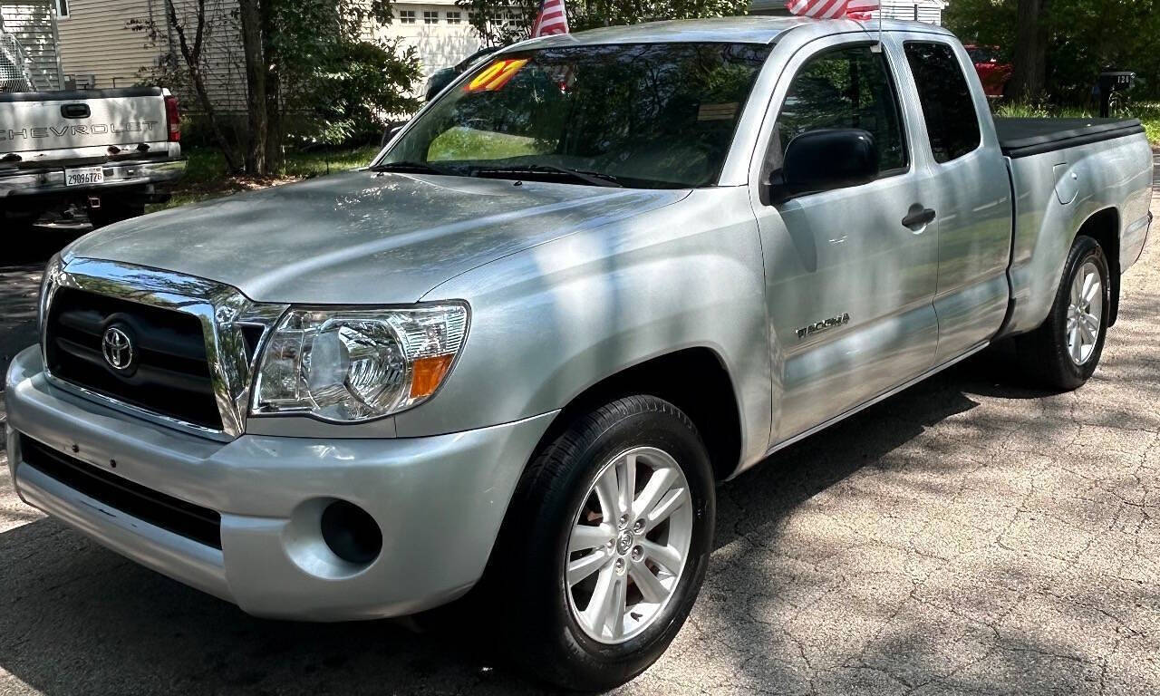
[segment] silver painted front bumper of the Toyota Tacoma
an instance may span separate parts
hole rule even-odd
[[[432,437],[244,435],[222,443],[90,403],[16,356],[6,387],[20,496],[106,546],[258,616],[400,616],[456,599],[481,577],[524,463],[554,413]],[[23,462],[20,434],[107,472],[220,513],[222,549],[96,501]],[[110,469],[110,461],[116,469]],[[320,501],[353,502],[383,551],[354,567],[319,532]]]

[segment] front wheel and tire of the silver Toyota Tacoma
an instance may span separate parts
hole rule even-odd
[[[655,476],[661,477],[655,479],[655,490],[667,492],[653,496],[657,505],[648,510],[630,513],[626,523],[610,521],[602,502],[609,498],[608,490],[603,498],[595,491],[597,477],[614,487],[623,484],[630,462],[637,472],[635,502],[648,498],[653,487],[648,481]],[[676,481],[670,488],[669,480]],[[687,495],[680,492],[682,487]],[[661,505],[670,499],[673,505]],[[623,500],[608,505],[621,506]],[[659,516],[662,508],[669,514],[650,528],[647,513]],[[485,579],[484,597],[495,622],[491,625],[503,626],[505,650],[512,660],[549,682],[577,690],[609,689],[644,672],[665,652],[693,608],[709,563],[715,514],[709,455],[693,421],[674,405],[651,396],[625,397],[573,420],[542,445],[524,472]],[[578,536],[573,529],[580,527],[610,536],[609,542]],[[609,529],[615,530],[609,535]],[[680,564],[675,556],[665,558],[686,541]],[[567,551],[570,542],[583,548]],[[654,560],[653,551],[665,563],[682,567],[675,573],[666,570]],[[599,570],[588,570],[583,580],[568,581],[568,568],[578,578],[583,574],[580,568],[596,565]],[[644,573],[660,585],[647,581]],[[665,582],[669,582],[668,594],[655,601],[664,594],[657,594],[657,588],[666,589]],[[608,593],[601,596],[610,601],[596,606],[608,607],[607,616],[615,616],[617,597],[633,611],[601,621],[592,597],[602,583]],[[645,597],[646,585],[653,601]],[[618,590],[624,595],[617,595]],[[616,626],[622,635],[615,635]]]

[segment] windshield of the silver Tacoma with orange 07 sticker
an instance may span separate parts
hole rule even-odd
[[[653,43],[503,53],[433,103],[376,168],[710,186],[769,50]]]

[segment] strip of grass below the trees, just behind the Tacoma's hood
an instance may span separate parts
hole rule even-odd
[[[225,165],[225,158],[216,147],[190,146],[183,148],[188,160],[186,176],[173,193],[168,203],[151,206],[151,210],[175,208],[206,201],[218,196],[227,196],[238,191],[247,191],[280,183],[313,179],[333,172],[345,172],[370,164],[378,152],[377,145],[363,145],[342,150],[287,152],[285,164],[277,176],[255,179],[242,175],[231,175]]]

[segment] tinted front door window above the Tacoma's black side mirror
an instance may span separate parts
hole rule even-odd
[[[906,168],[898,95],[885,57],[869,45],[826,51],[802,66],[777,116],[781,152],[802,133],[832,128],[873,135],[884,175]]]

